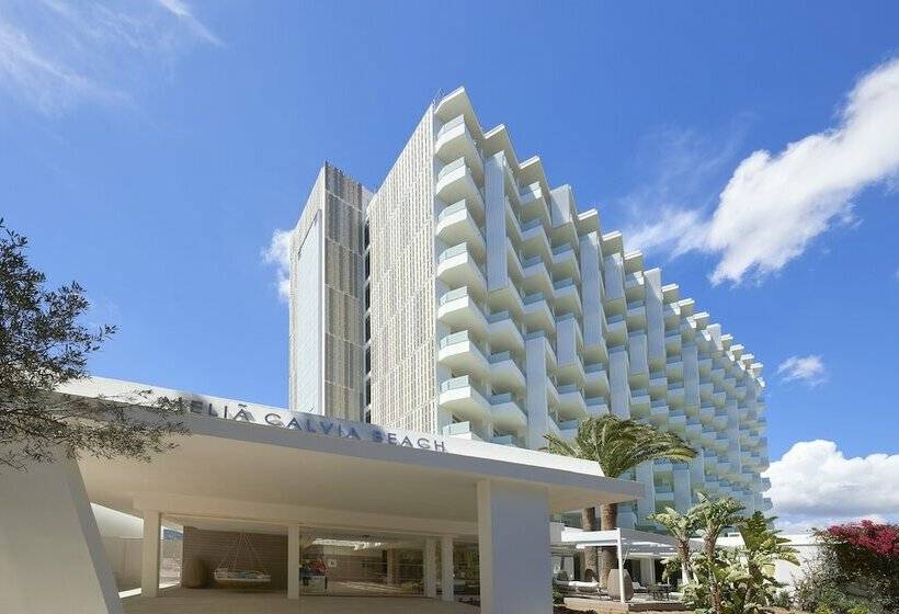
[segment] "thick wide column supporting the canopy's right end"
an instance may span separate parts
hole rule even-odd
[[[481,614],[551,612],[548,519],[545,488],[478,482]]]

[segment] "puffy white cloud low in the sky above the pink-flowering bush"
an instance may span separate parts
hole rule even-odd
[[[832,441],[798,442],[764,475],[783,528],[899,520],[899,454],[846,458]]]

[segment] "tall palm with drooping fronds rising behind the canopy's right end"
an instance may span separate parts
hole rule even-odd
[[[572,456],[599,463],[606,477],[617,478],[637,465],[664,458],[674,462],[690,461],[696,451],[673,433],[664,433],[649,424],[606,414],[588,418],[578,427],[578,434],[568,443],[556,435],[544,435],[548,445],[545,450],[562,456]],[[595,531],[595,512],[590,508],[581,512],[584,531]],[[600,528],[611,531],[618,524],[618,504],[600,505]],[[595,570],[596,550],[584,552],[585,569]],[[603,548],[600,568],[600,583],[606,584],[608,571],[615,564],[613,548]]]

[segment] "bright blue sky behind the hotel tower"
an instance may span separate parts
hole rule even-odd
[[[899,490],[899,107],[857,90],[878,67],[899,89],[896,23],[888,2],[5,0],[0,215],[120,326],[98,374],[286,405],[273,231],[326,159],[376,187],[462,84],[765,363],[772,461],[833,442],[782,473]]]

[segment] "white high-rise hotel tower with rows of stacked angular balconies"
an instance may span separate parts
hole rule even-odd
[[[534,450],[605,413],[680,434],[699,454],[623,476],[623,527],[697,491],[770,508],[761,371],[464,89],[375,193],[326,164],[293,234],[291,409]]]

